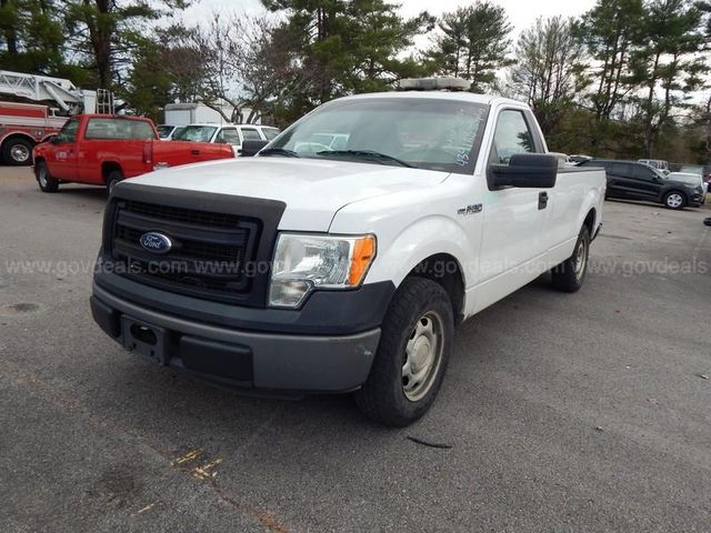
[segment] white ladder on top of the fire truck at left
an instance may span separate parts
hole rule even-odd
[[[114,112],[113,97],[109,90],[86,91],[77,88],[70,80],[49,76],[0,70],[0,98],[2,97],[56,104],[64,114]]]

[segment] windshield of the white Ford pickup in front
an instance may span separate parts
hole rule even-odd
[[[304,117],[269,148],[301,158],[472,173],[488,111],[484,104],[434,98],[336,101]]]

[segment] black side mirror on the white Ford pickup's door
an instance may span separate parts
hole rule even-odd
[[[545,153],[517,153],[509,164],[491,164],[487,171],[489,189],[519,187],[551,189],[558,178],[558,159]]]

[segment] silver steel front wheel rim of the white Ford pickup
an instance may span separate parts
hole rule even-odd
[[[434,311],[420,316],[410,332],[402,364],[402,392],[411,402],[432,389],[442,362],[442,319]]]

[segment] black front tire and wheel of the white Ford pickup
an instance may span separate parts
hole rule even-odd
[[[418,333],[420,329],[427,330],[428,321],[431,331],[435,332],[432,336]],[[370,375],[354,393],[358,408],[368,418],[395,428],[409,425],[422,416],[442,384],[453,333],[454,315],[444,289],[431,280],[407,278],[388,308]],[[417,350],[408,352],[408,344]],[[409,354],[413,351],[415,355],[411,361]],[[430,365],[424,362],[430,359],[428,353],[433,358]],[[417,369],[412,366],[415,359],[424,376],[419,382],[410,382],[403,375],[403,369]]]

